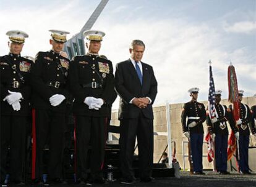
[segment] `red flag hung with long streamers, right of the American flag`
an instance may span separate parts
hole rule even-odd
[[[233,110],[232,110],[233,117],[234,117],[234,121],[236,122],[240,118],[240,109],[239,109],[236,70],[232,64],[228,66],[228,101],[233,106]],[[228,161],[236,152],[236,148],[237,148],[236,137],[232,130],[228,140]]]

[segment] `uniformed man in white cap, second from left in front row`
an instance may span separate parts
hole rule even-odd
[[[43,173],[43,154],[49,142],[49,181],[62,183],[62,155],[69,59],[60,53],[67,41],[66,31],[49,30],[52,49],[38,52],[32,66],[32,180],[41,182]]]

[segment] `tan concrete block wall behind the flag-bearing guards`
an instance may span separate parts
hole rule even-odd
[[[200,101],[207,106],[207,101]],[[242,101],[243,103],[253,106],[256,105],[256,99],[254,97],[245,97]],[[222,100],[221,104],[229,105],[227,100]],[[182,133],[182,125],[181,125],[181,110],[184,103],[178,104],[171,104],[169,106],[170,109],[170,117],[171,117],[171,140],[176,142],[176,158],[179,161],[179,164],[183,165],[182,160],[182,141],[187,141],[187,138],[184,137]],[[154,132],[167,132],[166,126],[166,107],[165,106],[155,106],[153,108],[154,112]],[[112,125],[119,125],[119,121],[117,119],[117,111],[113,111],[111,124]],[[229,125],[228,125],[229,126]],[[207,125],[203,124],[205,135],[207,132]],[[229,128],[230,132],[230,128]],[[117,138],[119,135],[115,135]],[[167,137],[164,135],[158,135],[154,137],[154,162],[158,162],[161,157],[161,154],[166,148],[167,145]],[[256,138],[254,136],[250,136],[250,146],[256,147]],[[256,170],[256,156],[255,156],[255,149],[250,149],[250,156],[249,156],[249,165],[250,168]],[[185,154],[187,154],[187,145],[185,146]],[[137,153],[137,151],[136,151]],[[207,144],[203,144],[203,155],[207,155]],[[233,165],[235,162],[233,161]],[[185,159],[186,169],[189,169],[189,162],[187,158]],[[213,165],[207,161],[207,157],[203,157],[203,168],[204,169],[212,169]]]

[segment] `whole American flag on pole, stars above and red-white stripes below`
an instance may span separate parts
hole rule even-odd
[[[215,109],[215,84],[213,80],[213,72],[211,70],[211,61],[209,62],[209,74],[210,74],[210,80],[209,80],[209,92],[208,92],[208,115],[212,119],[215,117],[216,109]],[[211,162],[215,157],[215,153],[214,153],[214,142],[213,142],[213,138],[211,138],[210,132],[207,132],[205,141],[207,141],[207,146],[208,146],[207,158],[208,158],[208,161]]]

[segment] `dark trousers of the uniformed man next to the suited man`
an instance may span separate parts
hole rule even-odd
[[[77,177],[87,180],[87,169],[90,165],[92,179],[103,177],[102,169],[105,157],[107,117],[75,116],[75,133],[77,148]],[[88,149],[91,145],[90,164]]]

